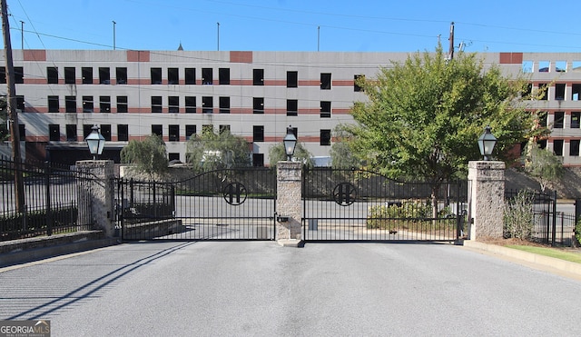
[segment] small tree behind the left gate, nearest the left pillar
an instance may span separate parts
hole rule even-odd
[[[168,160],[162,137],[151,134],[143,141],[131,140],[121,150],[121,162],[134,164],[137,170],[148,173],[150,178],[153,178],[153,173],[166,172]]]

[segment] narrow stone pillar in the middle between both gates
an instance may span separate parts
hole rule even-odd
[[[276,240],[297,246],[302,241],[302,164],[279,162],[276,170]]]

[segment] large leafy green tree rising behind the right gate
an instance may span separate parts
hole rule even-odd
[[[475,54],[446,56],[438,45],[381,68],[376,80],[360,79],[369,101],[354,104],[349,128],[354,153],[369,166],[430,183],[434,213],[441,183],[466,176],[468,161],[481,159],[477,139],[487,124],[506,161],[516,159],[509,149],[540,132],[520,99],[524,78],[505,78],[496,64],[485,69]]]

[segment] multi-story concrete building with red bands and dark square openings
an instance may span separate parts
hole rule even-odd
[[[366,100],[354,80],[373,78],[380,66],[409,54],[15,50],[13,55],[27,158],[69,164],[88,158],[84,137],[96,124],[107,140],[105,158],[118,160],[129,140],[161,134],[169,159],[184,161],[191,135],[212,128],[244,136],[252,144],[253,163],[262,165],[289,125],[311,154],[329,155],[332,130],[352,122],[350,107]],[[581,165],[581,54],[482,56],[506,74],[530,73],[533,87],[548,86],[546,99],[530,104],[546,112],[543,122],[552,125],[547,149],[567,165]]]

